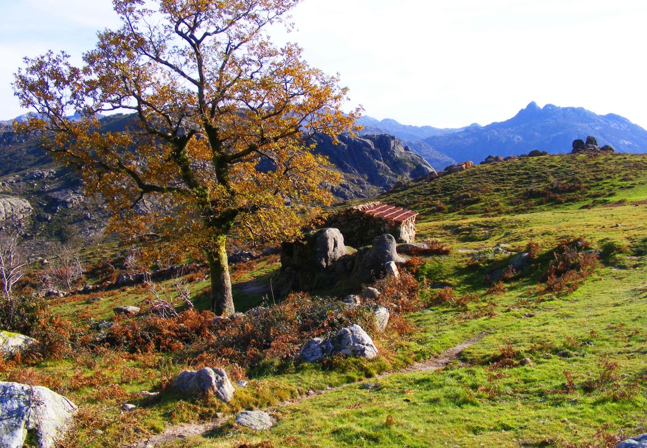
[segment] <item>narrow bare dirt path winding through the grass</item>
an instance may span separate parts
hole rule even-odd
[[[481,339],[483,339],[485,336],[487,336],[487,333],[479,333],[475,337],[472,337],[472,339],[468,339],[466,341],[461,342],[457,346],[446,350],[445,352],[441,353],[437,357],[427,359],[426,361],[413,364],[409,367],[406,367],[400,370],[395,370],[394,372],[388,372],[386,374],[377,375],[373,378],[367,379],[366,381],[361,381],[360,383],[375,382],[379,379],[390,377],[396,374],[406,374],[411,372],[433,372],[435,370],[441,370],[446,366],[448,366],[448,364],[451,363],[452,361],[456,361],[457,359],[459,359],[459,356],[461,355],[461,352],[463,352],[463,350],[465,350],[469,346],[476,344],[476,342],[481,341]],[[278,407],[295,405],[297,403],[301,403],[302,401],[312,399],[314,397],[318,397],[324,394],[329,394],[330,392],[334,392],[336,390],[341,390],[343,388],[347,388],[353,385],[356,386],[360,383],[348,383],[342,386],[327,388],[325,390],[309,391],[309,394],[305,396],[295,398],[290,401],[285,401],[280,405],[268,407],[265,410],[268,412],[271,412],[272,410]],[[209,421],[207,423],[173,425],[165,429],[164,432],[160,432],[160,434],[157,434],[149,438],[148,440],[144,440],[143,442],[137,443],[135,447],[138,447],[138,448],[155,447],[156,445],[159,445],[161,443],[173,442],[174,440],[178,440],[179,438],[199,436],[201,434],[204,434],[205,432],[212,431],[213,429],[221,427],[223,424],[225,424],[227,420],[229,420],[229,418],[230,417],[228,416],[228,417],[220,418],[215,421]]]

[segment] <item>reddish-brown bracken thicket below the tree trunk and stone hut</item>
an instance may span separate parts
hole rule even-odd
[[[382,292],[375,303],[391,311],[392,328],[400,334],[410,331],[398,315],[422,309],[415,278],[402,272],[399,278],[384,278],[375,287]],[[281,361],[291,360],[305,342],[329,337],[351,324],[373,328],[370,306],[347,308],[335,298],[300,293],[269,308],[229,318],[190,309],[170,319],[148,316],[118,321],[105,342],[133,353],[175,352],[179,361],[196,368],[276,369]]]

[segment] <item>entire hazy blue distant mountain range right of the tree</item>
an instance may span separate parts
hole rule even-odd
[[[597,115],[582,107],[539,107],[531,102],[514,117],[487,126],[441,129],[407,126],[395,120],[362,117],[362,133],[391,133],[437,170],[454,161],[483,161],[488,155],[521,155],[531,150],[551,154],[572,150],[575,139],[589,135],[617,151],[647,151],[647,131],[620,115]]]

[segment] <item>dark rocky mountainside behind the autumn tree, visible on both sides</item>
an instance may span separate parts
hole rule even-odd
[[[131,115],[101,120],[105,131],[123,131],[127,124],[134,128]],[[316,139],[316,151],[329,157],[344,176],[342,185],[334,189],[338,199],[377,196],[398,181],[406,183],[433,170],[390,135],[342,135],[338,145],[325,136]],[[54,163],[36,138],[1,123],[0,208],[5,210],[0,212],[0,228],[17,227],[33,246],[39,241],[98,237],[107,221],[102,205],[83,196],[82,179],[76,172]]]

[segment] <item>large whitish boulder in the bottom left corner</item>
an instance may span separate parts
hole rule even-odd
[[[22,448],[28,433],[54,448],[73,424],[76,406],[46,387],[0,382],[0,446]]]

